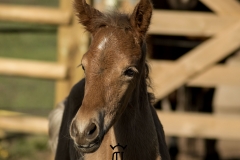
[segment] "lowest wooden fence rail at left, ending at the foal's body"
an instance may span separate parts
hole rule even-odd
[[[11,132],[48,134],[47,118],[34,117],[25,114],[1,114],[0,112],[0,129]]]

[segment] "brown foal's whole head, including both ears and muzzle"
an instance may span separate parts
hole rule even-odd
[[[131,15],[103,14],[85,0],[75,0],[80,23],[92,35],[82,58],[85,94],[70,127],[81,152],[96,151],[104,134],[127,107],[133,91],[145,78],[147,32],[152,5],[141,0]]]

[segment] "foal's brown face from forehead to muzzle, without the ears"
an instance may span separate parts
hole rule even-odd
[[[85,95],[71,135],[83,152],[93,152],[125,110],[141,74],[141,48],[130,31],[105,27],[82,58]]]

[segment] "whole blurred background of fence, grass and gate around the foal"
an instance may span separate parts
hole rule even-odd
[[[172,160],[240,159],[240,2],[153,6],[148,59]],[[52,159],[47,117],[83,77],[90,39],[74,17],[69,0],[0,0],[0,160]]]

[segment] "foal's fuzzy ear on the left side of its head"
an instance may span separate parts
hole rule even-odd
[[[86,30],[90,33],[95,31],[94,19],[102,16],[103,14],[97,9],[91,7],[85,0],[75,0],[74,7],[79,18],[79,22],[85,26]]]

